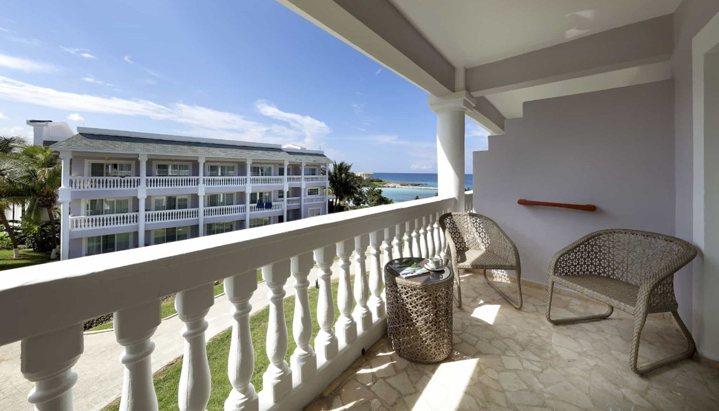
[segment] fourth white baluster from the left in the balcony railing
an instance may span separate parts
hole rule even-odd
[[[257,270],[252,269],[224,279],[224,289],[232,304],[232,337],[227,358],[227,376],[232,391],[225,400],[225,411],[257,410],[259,400],[252,385],[252,371],[255,369],[255,350],[252,348],[252,333],[249,329],[249,299],[257,289]]]

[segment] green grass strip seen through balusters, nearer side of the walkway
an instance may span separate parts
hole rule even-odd
[[[336,302],[338,283],[332,284],[332,294],[334,294],[334,302]],[[310,310],[312,313],[312,339],[319,331],[319,324],[316,321],[317,312],[317,296],[319,290],[310,287],[309,289],[309,300]],[[285,361],[290,362],[290,356],[296,348],[295,341],[292,337],[292,322],[293,313],[295,310],[295,297],[288,297],[285,299],[285,322],[287,323],[288,333],[288,350]],[[255,386],[257,392],[262,390],[262,374],[267,369],[269,361],[267,360],[267,354],[265,353],[265,338],[267,335],[267,324],[269,322],[270,308],[265,307],[262,310],[255,312],[249,319],[249,326],[252,330],[252,345],[255,348],[255,372],[252,374],[252,384]],[[335,321],[339,317],[339,310],[336,306],[334,309]],[[179,337],[178,337],[179,338]],[[210,364],[210,373],[212,376],[212,391],[210,395],[210,402],[207,405],[207,410],[222,410],[224,407],[224,400],[229,395],[232,385],[230,385],[227,379],[227,357],[229,353],[230,345],[230,330],[225,330],[212,338],[207,344],[207,357]],[[178,410],[178,385],[180,384],[180,371],[182,371],[182,360],[178,360],[172,365],[168,366],[164,370],[155,374],[155,392],[157,392],[157,401],[160,405],[160,410]],[[111,405],[108,405],[104,410],[119,410],[119,400],[116,400]]]

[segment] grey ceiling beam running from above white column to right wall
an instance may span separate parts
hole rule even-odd
[[[557,81],[646,66],[672,58],[672,14],[467,68],[472,96],[486,96]]]

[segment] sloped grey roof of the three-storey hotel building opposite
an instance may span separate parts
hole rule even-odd
[[[205,157],[257,158],[278,161],[307,161],[329,163],[330,159],[319,153],[285,151],[282,148],[252,147],[235,144],[203,143],[179,140],[157,140],[141,137],[99,135],[85,132],[73,135],[50,146],[54,150],[99,151],[103,153],[137,153],[165,155],[203,155]]]

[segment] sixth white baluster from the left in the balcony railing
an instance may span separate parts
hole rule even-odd
[[[292,364],[293,385],[297,387],[303,382],[310,381],[317,371],[317,356],[312,349],[312,345],[310,345],[312,315],[307,294],[307,287],[310,284],[307,276],[310,274],[312,266],[314,266],[312,253],[304,253],[293,257],[291,265],[292,276],[296,279],[295,316],[292,322],[292,333],[297,347],[290,357],[290,364]]]

